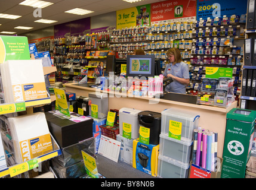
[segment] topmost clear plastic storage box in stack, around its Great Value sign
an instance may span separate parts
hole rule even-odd
[[[175,121],[182,123],[181,126],[181,138],[184,140],[192,140],[193,138],[193,129],[198,127],[199,115],[186,112],[179,109],[166,109],[161,112],[162,114],[162,123],[161,123],[161,134],[169,134],[169,122]]]

